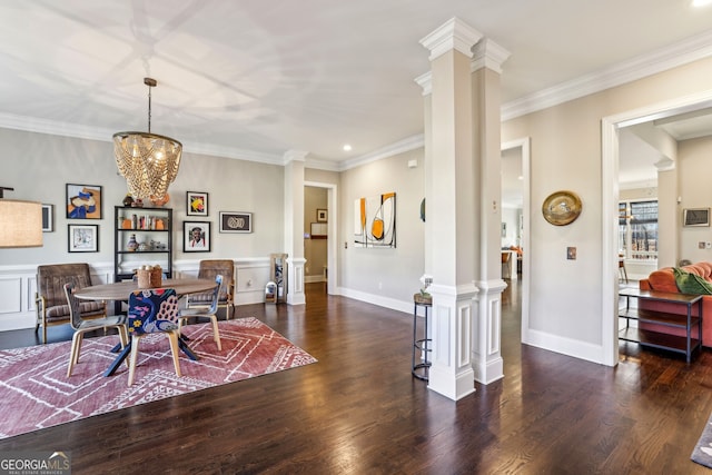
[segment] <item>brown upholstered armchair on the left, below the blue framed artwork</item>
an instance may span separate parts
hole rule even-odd
[[[71,284],[75,288],[89,287],[91,285],[89,265],[83,263],[38,266],[34,333],[40,326],[42,327],[42,343],[47,343],[48,326],[65,325],[70,321],[71,314],[65,295],[65,284]],[[79,309],[82,319],[107,316],[103,301],[81,301]]]

